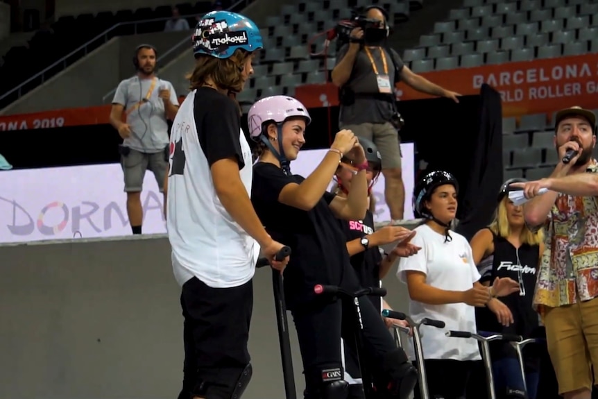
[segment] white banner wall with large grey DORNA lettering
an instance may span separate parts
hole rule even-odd
[[[405,192],[413,192],[413,144],[401,144]],[[291,165],[307,176],[326,150],[305,150]],[[373,187],[376,221],[390,220],[384,202],[384,176]],[[162,194],[151,172],[146,173],[144,233],[166,232]],[[411,195],[405,198],[404,219],[413,219]],[[0,243],[99,238],[130,235],[120,164],[24,169],[0,172]]]

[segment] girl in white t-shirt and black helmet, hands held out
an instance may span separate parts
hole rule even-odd
[[[397,276],[409,289],[409,314],[444,321],[445,329],[423,326],[422,347],[430,396],[465,398],[472,361],[480,359],[477,341],[445,336],[446,330],[475,332],[475,306],[485,306],[493,296],[518,291],[510,278],[480,284],[471,247],[462,235],[450,230],[457,210],[459,185],[445,171],[428,173],[413,191],[416,217],[427,219],[411,240],[422,248],[401,258]],[[412,360],[413,348],[409,348]],[[420,398],[418,387],[415,397]]]

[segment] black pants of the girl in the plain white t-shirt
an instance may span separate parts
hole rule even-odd
[[[444,399],[465,398],[469,376],[476,365],[483,367],[481,362],[426,359],[425,368],[430,398],[434,398],[434,396],[440,396]],[[413,398],[421,398],[419,384],[413,391]]]

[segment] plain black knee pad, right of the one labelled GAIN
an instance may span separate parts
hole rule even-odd
[[[402,349],[386,353],[382,359],[386,381],[377,379],[376,391],[382,398],[407,399],[418,383],[418,371]]]

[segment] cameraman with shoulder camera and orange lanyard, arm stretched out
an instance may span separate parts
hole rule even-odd
[[[460,94],[414,74],[403,64],[398,53],[386,44],[389,27],[382,8],[367,7],[365,18],[359,22],[360,26],[351,31],[349,43],[339,49],[332,69],[332,83],[341,88],[339,126],[372,140],[379,148],[386,205],[393,221],[402,220],[405,188],[398,135],[402,118],[395,105],[395,83],[402,80],[418,92],[457,103]]]

